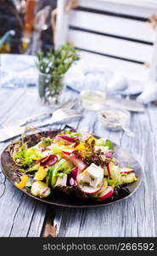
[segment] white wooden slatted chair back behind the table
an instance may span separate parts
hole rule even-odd
[[[71,9],[75,7],[75,9]],[[155,0],[58,0],[55,46],[140,81],[157,79]]]

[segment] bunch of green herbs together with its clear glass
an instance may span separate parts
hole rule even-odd
[[[59,103],[64,90],[64,74],[74,61],[79,59],[78,50],[71,44],[64,44],[59,49],[39,52],[36,65],[39,70],[38,92],[43,103]]]

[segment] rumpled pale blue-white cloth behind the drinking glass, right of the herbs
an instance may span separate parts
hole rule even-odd
[[[109,69],[104,69],[102,66],[98,67],[98,63],[91,63],[89,61],[81,60],[76,62],[66,74],[65,83],[78,92],[85,90],[84,81],[86,76],[90,73],[95,78],[102,76],[109,94],[113,95],[139,95],[138,102],[148,104],[157,100],[157,82],[149,81],[143,83],[135,79],[127,78],[125,75],[121,76],[118,73],[113,73]]]

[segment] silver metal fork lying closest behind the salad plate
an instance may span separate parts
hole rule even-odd
[[[54,123],[64,123],[65,120],[68,119],[73,119],[77,117],[81,117],[82,113],[78,112],[77,110],[74,109],[67,109],[65,106],[63,108],[56,109],[53,112],[53,116],[45,120],[44,122],[39,122],[36,123],[36,128],[37,127],[42,127],[45,125],[53,125]],[[0,129],[0,142],[4,142],[10,138],[19,136],[21,133],[23,133],[24,127],[22,126],[8,126],[4,127],[3,129]]]

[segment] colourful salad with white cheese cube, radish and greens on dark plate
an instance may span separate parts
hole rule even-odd
[[[61,191],[60,196],[110,202],[129,195],[127,185],[137,182],[136,170],[119,166],[115,144],[104,137],[70,130],[30,138],[14,141],[5,152],[14,166],[12,182],[32,196],[53,201]]]

